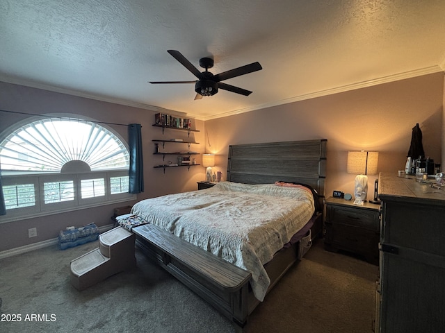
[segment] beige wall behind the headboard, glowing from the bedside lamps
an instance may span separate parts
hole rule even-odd
[[[442,73],[299,101],[206,121],[206,151],[227,171],[229,144],[327,139],[326,194],[353,194],[349,150],[379,151],[379,171],[405,169],[412,128],[419,123],[426,155],[442,160]],[[265,161],[267,162],[267,161]],[[369,198],[376,176],[369,177]]]

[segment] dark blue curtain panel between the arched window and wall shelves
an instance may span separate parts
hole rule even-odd
[[[128,126],[130,147],[130,184],[129,193],[144,191],[144,165],[142,158],[142,135],[139,123],[131,123]]]

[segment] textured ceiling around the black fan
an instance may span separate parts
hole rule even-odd
[[[445,1],[0,0],[0,45],[0,80],[212,119],[443,71]],[[195,80],[168,49],[263,70],[194,101],[147,83]]]

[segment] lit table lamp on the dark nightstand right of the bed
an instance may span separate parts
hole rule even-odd
[[[368,176],[377,174],[378,152],[377,151],[348,151],[348,173],[354,173],[354,203],[363,205],[368,194]]]

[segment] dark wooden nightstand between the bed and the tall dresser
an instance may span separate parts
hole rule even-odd
[[[353,200],[327,198],[325,249],[346,250],[378,265],[380,205],[354,205]]]

